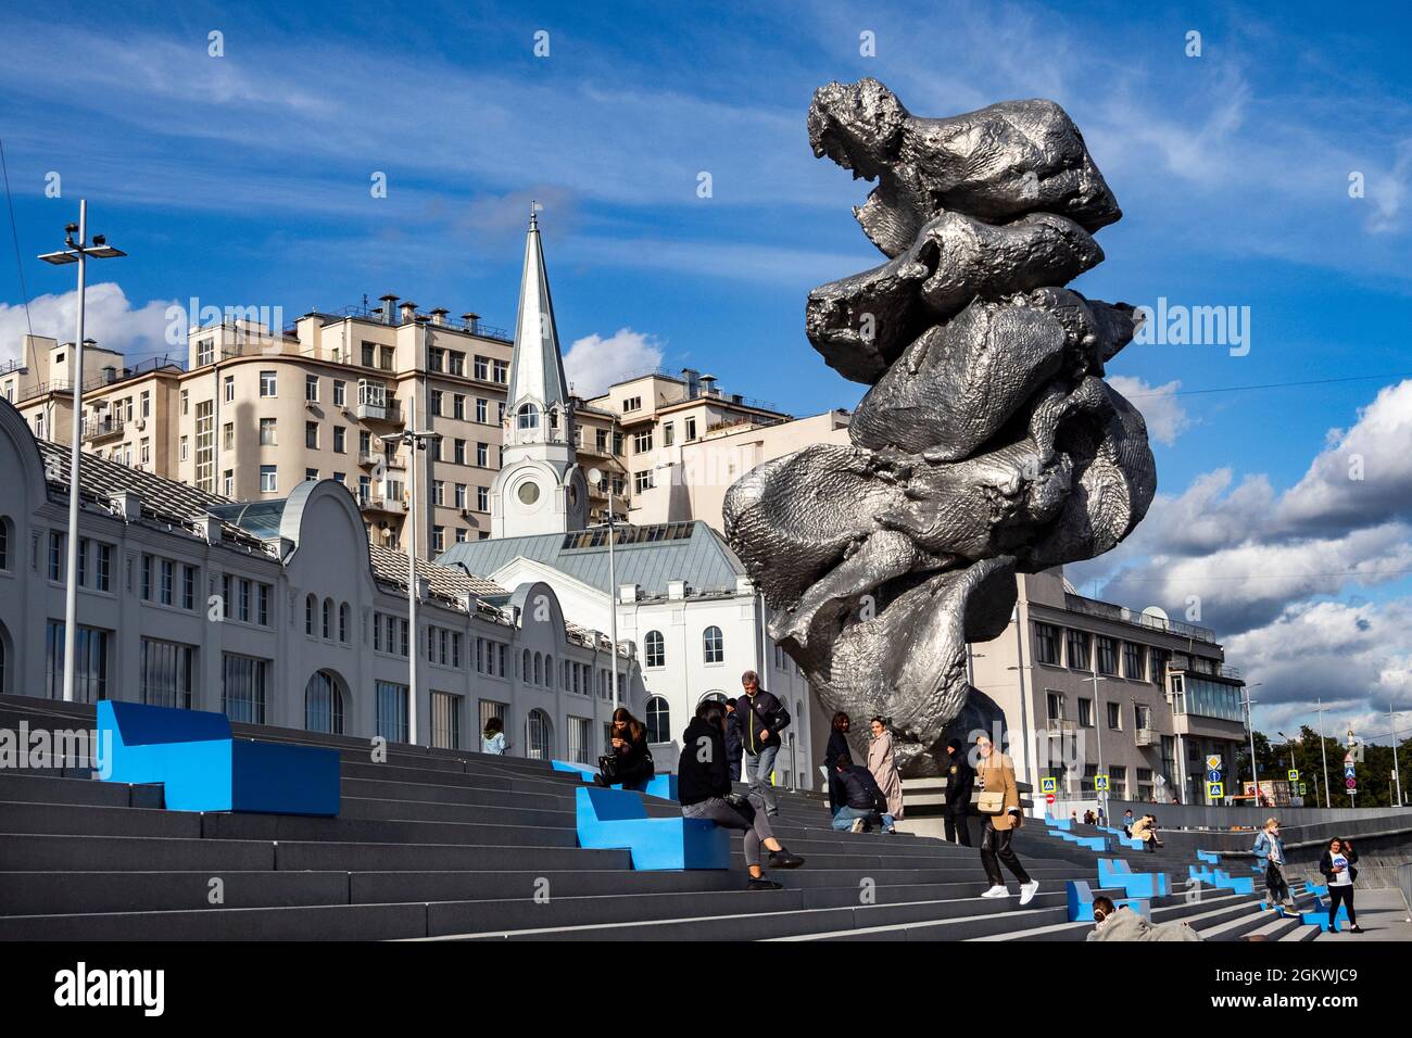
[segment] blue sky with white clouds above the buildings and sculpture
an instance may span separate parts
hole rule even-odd
[[[1251,315],[1245,356],[1134,345],[1111,366],[1161,434],[1162,497],[1075,580],[1173,616],[1197,593],[1264,671],[1271,724],[1332,695],[1375,727],[1380,699],[1412,709],[1408,30],[1377,4],[3,3],[0,134],[24,257],[80,195],[130,251],[99,270],[121,290],[107,345],[150,350],[192,295],[292,316],[394,291],[510,325],[534,196],[561,336],[599,336],[594,373],[659,357],[808,414],[863,387],[809,347],[805,295],[881,258],[850,213],[867,185],[809,151],[812,92],[871,75],[928,116],[1052,97],[1125,212],[1076,287]],[[72,288],[24,273],[31,297]],[[4,357],[13,257],[0,287]],[[1327,378],[1357,380],[1206,393]],[[1348,443],[1358,486],[1336,482]]]

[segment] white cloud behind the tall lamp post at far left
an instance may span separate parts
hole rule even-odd
[[[93,339],[103,349],[126,353],[131,360],[175,352],[165,338],[168,323],[165,314],[174,302],[152,299],[134,308],[117,282],[89,285],[83,308],[83,338]],[[76,304],[78,290],[31,299],[30,322],[34,325],[34,335],[72,342],[76,330]],[[0,363],[20,356],[28,330],[24,304],[0,302]]]

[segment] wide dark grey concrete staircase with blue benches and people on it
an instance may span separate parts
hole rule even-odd
[[[3,729],[92,719],[92,706],[0,696]],[[729,871],[638,873],[623,850],[578,847],[579,781],[544,761],[394,746],[373,763],[364,740],[236,729],[337,748],[342,816],[165,811],[160,788],[95,781],[83,763],[0,771],[0,941],[1082,941],[1091,928],[1066,921],[1065,881],[1097,890],[1096,856],[1038,823],[1017,849],[1042,887],[1019,908],[979,897],[973,849],[834,833],[822,799],[782,792],[777,833],[808,864],[775,874],[785,890],[747,893],[738,839]],[[1185,864],[1151,857],[1185,880]],[[1155,918],[1217,939],[1278,929],[1257,898],[1178,891]]]

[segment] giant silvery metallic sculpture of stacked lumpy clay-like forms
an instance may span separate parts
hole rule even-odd
[[[1103,380],[1134,311],[1063,287],[1121,212],[1046,100],[918,119],[874,79],[829,83],[809,140],[877,181],[856,215],[887,263],[805,312],[873,388],[851,446],[738,480],[726,534],[825,708],[891,717],[904,774],[936,774],[949,726],[998,715],[966,643],[1005,630],[1015,573],[1108,551],[1156,489],[1142,417]]]

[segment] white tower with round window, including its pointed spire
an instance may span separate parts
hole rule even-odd
[[[531,206],[520,278],[504,448],[500,475],[490,487],[490,530],[497,538],[583,530],[589,513],[587,483],[573,451],[573,405],[534,209],[538,206]]]

